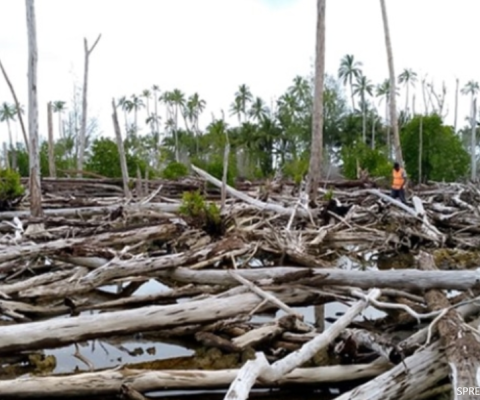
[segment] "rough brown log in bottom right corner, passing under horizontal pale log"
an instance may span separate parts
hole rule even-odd
[[[421,252],[418,261],[422,269],[436,270],[432,255]],[[427,291],[425,299],[432,311],[450,307],[450,302],[439,290]],[[445,346],[455,399],[477,399],[478,396],[474,393],[455,394],[457,388],[480,386],[480,342],[477,332],[466,325],[454,309],[447,311],[438,321],[438,332]]]

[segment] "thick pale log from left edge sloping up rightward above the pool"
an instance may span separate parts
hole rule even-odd
[[[284,303],[297,305],[313,301],[316,297],[310,291],[301,289],[287,289],[276,292],[275,295]],[[57,347],[91,338],[212,322],[248,314],[258,307],[262,300],[254,293],[244,293],[175,305],[4,326],[0,327],[0,353]],[[268,308],[271,307],[263,307]]]

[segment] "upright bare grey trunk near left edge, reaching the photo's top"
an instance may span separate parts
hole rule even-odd
[[[37,27],[35,19],[34,0],[25,1],[27,8],[28,32],[28,132],[30,136],[30,214],[33,218],[40,218],[43,216],[43,210],[42,188],[40,182],[40,152],[38,143]]]

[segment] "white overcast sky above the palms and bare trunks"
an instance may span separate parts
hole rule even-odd
[[[315,0],[36,0],[39,48],[40,132],[46,103],[72,97],[82,82],[83,38],[102,38],[91,56],[89,115],[111,135],[111,99],[162,90],[199,92],[203,116],[220,115],[245,83],[267,102],[295,75],[307,75],[315,51]],[[478,0],[387,0],[395,72],[413,68],[448,86],[447,122],[453,123],[455,78],[480,79],[475,62]],[[27,104],[25,1],[0,0],[0,59]],[[388,77],[379,0],[327,0],[326,71],[335,73],[345,54],[364,64],[378,83]],[[417,85],[420,86],[419,84]],[[0,102],[12,102],[0,79]],[[404,101],[400,99],[399,107]],[[420,92],[417,110],[423,107]],[[460,103],[459,121],[468,113]],[[2,124],[4,125],[4,124]],[[6,127],[0,126],[1,140]],[[20,138],[20,137],[19,137]]]

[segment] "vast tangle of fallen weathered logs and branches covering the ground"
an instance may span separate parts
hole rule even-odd
[[[239,190],[194,169],[199,178],[190,182],[198,184],[153,185],[134,200],[107,196],[106,187],[95,196],[89,185],[98,181],[65,180],[64,197],[58,188],[48,194],[44,182],[44,218],[0,213],[1,399],[145,399],[158,390],[223,388],[225,399],[240,400],[252,388],[298,385],[336,389],[338,400],[428,399],[480,386],[476,187],[415,188],[402,204],[377,188],[340,183],[309,202],[289,185]],[[219,203],[223,235],[179,213],[182,192],[206,182],[229,195]],[[43,230],[31,235],[30,225]],[[341,255],[368,266],[369,254],[408,254],[411,264],[338,266]],[[168,290],[134,294],[152,280]],[[105,290],[111,285],[116,293]],[[297,308],[321,314],[332,302],[348,310],[326,328]],[[359,318],[372,308],[385,316]],[[268,322],[252,320],[264,313]],[[101,369],[77,348],[77,373],[35,369],[46,349],[138,333],[234,361],[221,369]]]

